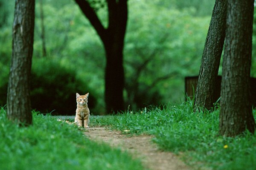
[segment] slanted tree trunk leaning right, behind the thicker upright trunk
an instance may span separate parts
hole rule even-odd
[[[201,60],[195,107],[210,110],[225,39],[227,0],[216,0]]]

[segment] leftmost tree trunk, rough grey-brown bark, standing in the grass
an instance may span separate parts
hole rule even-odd
[[[32,124],[30,72],[35,21],[35,0],[16,0],[12,32],[12,61],[7,94],[7,116],[19,125]]]

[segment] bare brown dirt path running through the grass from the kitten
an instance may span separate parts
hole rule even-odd
[[[151,142],[153,136],[130,137],[105,127],[90,127],[84,133],[90,139],[107,142],[113,147],[128,150],[134,158],[141,158],[144,166],[150,170],[189,170],[189,167],[173,153],[157,150],[157,145]]]

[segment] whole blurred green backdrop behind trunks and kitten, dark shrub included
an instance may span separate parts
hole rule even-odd
[[[197,76],[215,0],[128,0],[125,107],[185,100],[184,78]],[[15,0],[0,0],[0,106],[6,105]],[[106,6],[97,10],[107,24]],[[256,77],[256,21],[251,76]],[[73,0],[36,0],[32,108],[74,115],[76,92],[90,93],[94,115],[105,114],[105,51]],[[221,67],[219,69],[221,75]]]

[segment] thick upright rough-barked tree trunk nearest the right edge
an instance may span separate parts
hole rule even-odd
[[[250,105],[254,0],[228,0],[227,30],[221,82],[220,134],[255,131]]]

